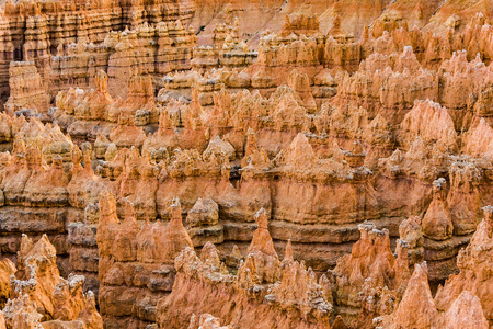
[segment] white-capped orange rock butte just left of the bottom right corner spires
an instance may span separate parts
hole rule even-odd
[[[368,326],[371,316],[389,314],[392,300],[399,300],[410,276],[409,243],[398,241],[398,258],[390,250],[388,230],[378,230],[374,224],[359,225],[360,238],[351,254],[337,260],[331,271],[339,306],[362,309],[357,326]],[[345,315],[349,322],[351,313]]]

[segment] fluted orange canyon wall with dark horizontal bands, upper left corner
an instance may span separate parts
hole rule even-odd
[[[94,69],[118,68],[121,75],[125,75],[122,66],[127,66],[127,70],[138,70],[131,68],[136,65],[133,60],[135,54],[129,50],[131,48],[140,47],[142,52],[144,48],[154,48],[156,54],[141,56],[151,57],[152,67],[154,61],[165,61],[160,70],[165,70],[164,67],[186,68],[186,65],[174,67],[170,63],[173,61],[172,57],[175,57],[174,60],[186,59],[186,53],[191,52],[174,46],[176,37],[180,38],[186,33],[186,30],[182,31],[181,21],[187,24],[194,15],[195,8],[195,2],[186,0],[22,3],[7,1],[2,4],[0,14],[1,67],[5,72],[0,77],[0,98],[5,101],[9,95],[12,97],[10,89],[21,88],[20,82],[15,80],[26,73],[25,69],[11,69],[9,81],[7,71],[11,61],[33,61],[42,82],[38,90],[44,88],[50,91],[51,97],[70,86],[89,88]],[[140,33],[127,33],[128,29],[134,31],[142,24],[152,26],[144,29],[145,31]],[[159,32],[154,31],[154,25]],[[137,38],[147,38],[148,42]],[[158,46],[159,38],[161,42]],[[170,46],[173,46],[171,47],[173,54],[164,49]],[[142,60],[137,63],[144,65]],[[14,104],[23,106],[15,101]],[[47,107],[43,106],[37,110],[47,112]]]

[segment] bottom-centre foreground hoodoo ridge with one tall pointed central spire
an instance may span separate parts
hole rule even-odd
[[[231,328],[330,327],[333,310],[326,276],[317,281],[310,268],[296,262],[290,243],[279,262],[265,211],[255,216],[257,229],[237,274],[227,271],[211,243],[204,246],[200,258],[191,248],[182,251],[175,260],[173,291],[158,304],[160,328],[183,328],[188,324],[195,328],[194,314],[205,309],[219,316],[216,326],[222,321]]]

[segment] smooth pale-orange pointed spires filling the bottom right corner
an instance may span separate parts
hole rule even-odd
[[[489,328],[491,305],[488,294],[491,275],[483,269],[491,252],[491,206],[470,245],[458,256],[459,273],[452,274],[432,297],[426,263],[416,264],[397,309],[374,319],[382,328]],[[479,247],[481,246],[481,247]]]

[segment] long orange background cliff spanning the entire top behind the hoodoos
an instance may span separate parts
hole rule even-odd
[[[197,4],[187,0],[117,4],[108,1],[88,4],[8,2],[0,24],[5,45],[2,65],[8,67],[11,60],[33,60],[43,83],[37,88],[31,86],[31,93],[42,95],[43,90],[49,90],[53,98],[71,86],[93,87],[99,69],[107,71],[114,95],[126,95],[126,83],[122,80],[135,75],[150,73],[160,79],[159,75],[191,66],[197,69],[246,67],[257,55],[248,49],[246,43],[252,47],[260,45],[261,59],[265,54],[312,53],[312,43],[307,42],[316,39],[317,56],[324,57],[322,64],[351,70],[374,46],[381,53],[383,48],[401,50],[411,45],[431,63],[449,58],[454,50],[468,49],[469,56],[480,52],[489,61],[492,50],[485,42],[491,36],[491,29],[485,24],[491,15],[488,5],[485,0],[470,3],[451,0],[295,1],[285,5],[205,1],[197,11]],[[475,16],[478,12],[482,14]],[[450,38],[432,33],[425,35],[410,31],[413,26],[455,35]],[[265,29],[274,34],[262,36]],[[200,47],[193,50],[197,39],[195,31]],[[370,35],[377,41],[386,38],[386,33],[392,34],[387,35],[387,41],[368,44]],[[294,35],[298,38],[303,35],[305,39],[301,37],[295,45],[288,45],[295,42]],[[355,36],[362,42],[355,41]],[[279,42],[283,45],[279,46]],[[277,50],[267,49],[276,45]],[[307,59],[309,57],[312,56],[308,55]],[[300,67],[306,67],[307,63],[300,63]],[[277,65],[267,66],[267,75],[253,77],[252,82],[260,88],[271,86],[275,82],[273,78],[283,75],[274,67]],[[2,99],[7,100],[9,78],[3,75],[0,80]],[[331,91],[324,88],[318,89],[318,93]]]

